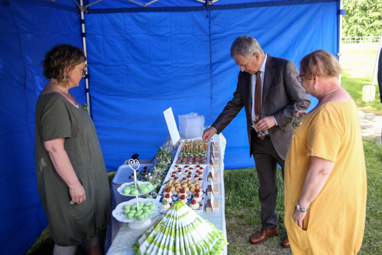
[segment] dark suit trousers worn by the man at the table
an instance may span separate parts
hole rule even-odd
[[[284,178],[284,162],[278,155],[269,137],[261,140],[252,130],[251,149],[259,179],[259,200],[261,203],[261,223],[266,230],[277,227],[277,164],[281,166]]]

